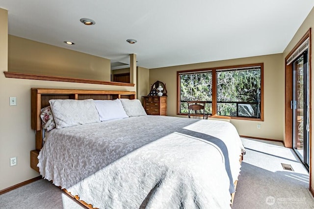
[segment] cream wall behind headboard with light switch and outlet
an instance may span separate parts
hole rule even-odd
[[[30,128],[30,88],[136,91],[136,86],[120,87],[5,78],[3,71],[7,71],[7,37],[7,11],[0,9],[0,190],[39,175],[29,166],[29,152],[35,149],[35,134]],[[9,106],[10,96],[17,97],[17,106]],[[9,159],[15,156],[18,163],[10,167]]]

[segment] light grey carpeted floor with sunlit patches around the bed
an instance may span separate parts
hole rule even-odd
[[[246,155],[233,209],[314,209],[309,173],[282,143],[244,139]],[[284,170],[291,164],[294,171]],[[46,180],[0,195],[0,209],[81,209],[73,199]]]

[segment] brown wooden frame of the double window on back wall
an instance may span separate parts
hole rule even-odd
[[[232,70],[232,69],[241,69],[241,68],[249,68],[249,67],[261,67],[261,118],[254,117],[246,117],[246,116],[219,116],[217,115],[217,71],[221,70]],[[207,68],[207,69],[195,69],[195,70],[181,70],[177,71],[177,115],[185,116],[187,114],[180,113],[180,102],[181,102],[181,83],[180,83],[180,74],[182,73],[193,73],[193,72],[201,72],[201,71],[211,71],[212,73],[212,98],[211,98],[211,111],[212,114],[209,117],[213,118],[223,118],[223,119],[242,119],[242,120],[256,120],[256,121],[264,121],[264,64],[263,63],[255,63],[255,64],[246,64],[246,65],[236,65],[236,66],[224,66],[217,68]]]

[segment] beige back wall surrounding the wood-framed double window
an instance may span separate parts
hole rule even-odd
[[[177,71],[264,63],[264,121],[231,119],[240,135],[284,140],[284,66],[282,54],[151,69],[150,83],[167,87],[167,114],[177,116]],[[257,129],[261,124],[261,129]]]

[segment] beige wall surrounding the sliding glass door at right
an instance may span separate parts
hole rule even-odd
[[[292,40],[290,41],[290,43],[288,44],[288,46],[286,47],[286,49],[284,50],[283,53],[283,59],[282,59],[282,63],[283,65],[285,65],[285,57],[288,55],[288,53],[293,49],[294,46],[296,46],[296,44],[301,40],[301,38],[306,34],[306,32],[312,28],[312,34],[313,34],[313,28],[314,28],[314,8],[312,9],[312,11],[310,12],[310,14],[308,15],[308,17],[305,19],[305,21],[301,24],[300,28],[298,29],[298,31],[295,33],[294,37],[292,38]],[[312,51],[311,51],[311,56],[313,57],[313,46],[314,46],[314,38],[313,35],[311,37],[311,45],[312,45]],[[314,123],[313,123],[313,118],[314,118],[314,60],[311,60],[311,81],[312,81],[312,88],[311,88],[311,104],[312,104],[312,113],[311,113],[311,117],[312,117],[312,136],[314,136]],[[311,137],[311,141],[312,146],[311,146],[311,154],[310,154],[310,161],[314,162],[314,142],[313,142],[313,137]],[[312,163],[312,166],[314,165],[314,163]],[[313,171],[313,168],[312,168]],[[311,173],[311,179],[312,179],[312,185],[311,187],[314,188],[314,172]],[[314,190],[313,190],[314,191]]]

